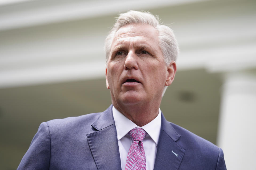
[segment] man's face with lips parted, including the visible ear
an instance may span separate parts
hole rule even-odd
[[[170,67],[164,61],[154,27],[142,24],[121,27],[115,33],[106,68],[113,105],[161,102],[164,86],[170,85],[174,70],[175,62]]]

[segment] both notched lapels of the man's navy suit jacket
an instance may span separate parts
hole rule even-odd
[[[176,143],[181,135],[165,119],[163,113],[161,113],[161,117],[161,131],[154,169],[177,170],[185,154],[185,150]],[[106,111],[102,112],[91,126],[97,131],[86,136],[97,168],[121,170],[112,105]]]

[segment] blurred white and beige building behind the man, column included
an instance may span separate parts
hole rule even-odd
[[[255,169],[255,0],[0,1],[1,169],[17,169],[41,122],[109,107],[104,39],[127,10],[177,37],[167,120],[221,147],[228,169]]]

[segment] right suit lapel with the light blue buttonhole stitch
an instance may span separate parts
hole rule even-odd
[[[161,131],[157,146],[154,170],[177,170],[181,164],[185,150],[177,145],[181,136],[174,130],[170,122],[166,121],[162,113]]]

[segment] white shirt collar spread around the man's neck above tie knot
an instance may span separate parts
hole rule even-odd
[[[115,127],[117,128],[117,139],[120,140],[123,138],[131,129],[133,128],[142,128],[147,134],[153,139],[155,144],[158,144],[158,139],[161,130],[161,110],[159,108],[158,115],[148,124],[139,127],[133,123],[130,119],[125,117],[121,112],[119,112],[114,106],[112,108],[113,117],[115,121]]]

